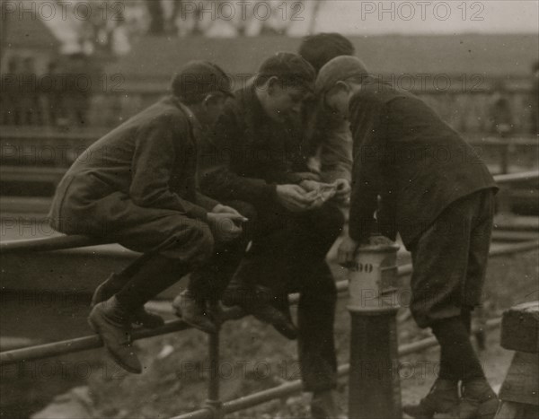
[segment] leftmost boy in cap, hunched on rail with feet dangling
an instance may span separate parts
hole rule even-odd
[[[174,76],[170,97],[92,144],[57,187],[49,214],[54,229],[143,253],[98,287],[89,317],[109,354],[129,372],[142,371],[131,323],[163,324],[144,309],[146,301],[192,273],[181,299],[183,319],[215,331],[205,301],[218,298],[243,254],[245,218],[201,195],[196,182],[195,132],[213,124],[230,94],[223,70],[190,62]]]

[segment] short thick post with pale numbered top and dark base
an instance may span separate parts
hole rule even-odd
[[[349,417],[401,418],[396,244],[358,249],[349,270]]]

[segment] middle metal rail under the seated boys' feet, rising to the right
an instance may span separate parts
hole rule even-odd
[[[517,244],[507,244],[499,246],[497,249],[491,249],[490,257],[507,255],[511,253],[521,253],[537,248],[539,248],[539,240],[526,241],[524,243]],[[411,271],[411,264],[402,265],[398,268],[398,275],[410,275]],[[337,290],[339,292],[346,292],[348,290],[348,281],[338,282]],[[299,301],[299,294],[290,294],[289,301],[290,304],[296,304],[297,301]],[[238,319],[242,317],[243,314],[244,313],[242,312],[242,310],[225,310],[222,319],[224,321],[228,319]],[[160,336],[167,333],[178,332],[188,328],[190,328],[190,326],[184,323],[181,319],[171,320],[166,322],[163,327],[158,327],[155,329],[136,330],[133,332],[133,339],[138,340],[144,339],[146,337]],[[0,352],[0,365],[49,358],[52,356],[71,354],[75,352],[85,351],[88,349],[97,349],[99,347],[102,347],[102,340],[101,337],[97,335],[77,337],[75,339],[68,339],[64,341],[53,342],[50,344],[36,345],[21,349],[14,349],[12,351]]]

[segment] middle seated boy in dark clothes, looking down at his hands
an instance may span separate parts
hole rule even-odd
[[[267,58],[253,83],[227,100],[201,153],[200,185],[223,202],[254,206],[252,247],[223,301],[273,323],[288,338],[297,336],[302,378],[314,392],[313,416],[319,418],[336,417],[331,389],[337,379],[337,292],[325,256],[343,216],[325,202],[331,193],[318,196],[303,187],[315,176],[305,164],[297,121],[314,77],[313,67],[295,54]],[[300,293],[297,329],[289,318],[288,292]]]

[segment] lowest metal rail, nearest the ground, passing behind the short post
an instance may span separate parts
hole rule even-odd
[[[492,329],[499,327],[501,323],[501,319],[490,319],[487,320],[485,328]],[[478,327],[473,328],[473,333],[478,332],[480,329]],[[425,339],[421,339],[418,342],[412,342],[411,344],[401,345],[399,346],[399,355],[407,355],[407,354],[414,354],[416,352],[420,352],[424,349],[428,349],[432,346],[437,345],[436,337],[427,337]],[[349,364],[340,365],[339,369],[337,371],[339,377],[345,377],[349,374],[350,366]],[[263,391],[259,391],[257,393],[253,393],[249,396],[244,396],[240,398],[235,398],[234,400],[230,400],[223,403],[222,412],[224,414],[231,414],[234,412],[238,412],[243,409],[247,409],[250,407],[261,405],[262,403],[267,403],[273,399],[276,398],[282,398],[290,396],[294,393],[297,393],[303,389],[303,383],[301,380],[294,380],[287,382],[285,384],[281,384],[274,388],[269,388]],[[195,410],[193,412],[174,416],[172,419],[213,419],[213,411],[211,408],[201,408],[199,410]]]

